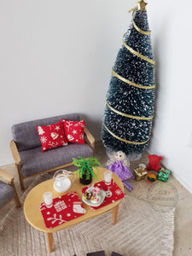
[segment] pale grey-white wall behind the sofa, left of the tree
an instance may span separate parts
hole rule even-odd
[[[78,112],[100,139],[105,94],[127,0],[0,1],[0,166],[14,160],[11,125]]]

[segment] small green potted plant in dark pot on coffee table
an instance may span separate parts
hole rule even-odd
[[[80,183],[83,185],[90,184],[92,182],[92,178],[96,178],[97,180],[96,173],[93,168],[96,168],[98,172],[99,170],[97,166],[101,166],[101,164],[95,157],[84,159],[84,157],[79,156],[79,159],[73,158],[73,165],[79,167],[76,175],[79,174]]]

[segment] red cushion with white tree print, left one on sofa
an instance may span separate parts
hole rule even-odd
[[[38,125],[36,129],[40,137],[43,152],[50,148],[67,145],[62,122],[47,126]]]

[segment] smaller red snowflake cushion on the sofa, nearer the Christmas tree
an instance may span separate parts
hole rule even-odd
[[[61,119],[64,124],[64,131],[69,143],[84,144],[84,120],[69,121]]]

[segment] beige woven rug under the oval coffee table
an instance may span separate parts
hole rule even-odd
[[[44,177],[38,177],[21,197]],[[174,208],[168,212],[155,211],[148,202],[131,197],[119,204],[117,224],[112,224],[112,212],[54,233],[54,252],[49,253],[44,233],[26,222],[23,207],[13,207],[2,221],[0,255],[25,256],[85,256],[104,250],[106,256],[117,252],[124,256],[172,255]]]

